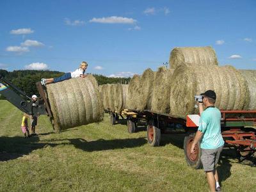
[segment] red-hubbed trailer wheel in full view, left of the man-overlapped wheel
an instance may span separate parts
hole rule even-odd
[[[148,124],[147,137],[148,137],[148,143],[152,147],[159,147],[160,141],[161,141],[161,129],[154,126],[153,124]]]

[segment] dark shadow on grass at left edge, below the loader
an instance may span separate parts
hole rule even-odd
[[[24,155],[28,155],[33,150],[44,148],[45,145],[51,147],[56,146],[54,143],[38,143],[38,136],[24,138],[20,136],[15,137],[0,137],[0,161],[8,161],[17,159]]]

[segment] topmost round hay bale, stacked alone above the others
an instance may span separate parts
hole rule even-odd
[[[176,47],[170,54],[170,68],[182,63],[193,65],[218,65],[216,53],[212,47]]]

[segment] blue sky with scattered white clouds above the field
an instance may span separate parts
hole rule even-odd
[[[0,1],[0,68],[132,76],[174,47],[211,45],[256,69],[256,1]]]

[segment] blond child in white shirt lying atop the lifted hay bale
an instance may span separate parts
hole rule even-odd
[[[57,83],[60,81],[64,81],[67,79],[71,79],[71,78],[76,78],[76,77],[86,77],[86,74],[84,74],[86,68],[88,67],[88,64],[86,63],[86,61],[83,61],[79,68],[77,68],[77,70],[75,70],[74,72],[68,72],[65,73],[63,76],[60,77],[56,77],[56,78],[50,78],[50,79],[41,79],[41,84],[42,85],[46,85],[46,84],[50,84],[50,83]]]

